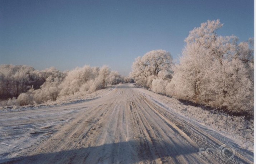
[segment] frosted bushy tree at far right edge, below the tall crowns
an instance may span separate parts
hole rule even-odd
[[[222,66],[216,63],[212,72],[208,103],[215,107],[225,107],[231,111],[253,110],[253,84],[247,77],[247,69],[239,59],[224,60]]]

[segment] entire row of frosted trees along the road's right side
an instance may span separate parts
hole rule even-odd
[[[154,50],[135,59],[131,77],[139,86],[232,112],[253,112],[253,39],[219,36],[219,20],[195,27],[184,40],[179,63]]]

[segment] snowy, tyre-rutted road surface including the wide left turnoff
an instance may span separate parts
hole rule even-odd
[[[0,163],[252,163],[253,153],[219,151],[235,142],[191,124],[139,91],[117,85],[103,96],[62,106],[0,113]],[[245,150],[244,150],[245,151]]]

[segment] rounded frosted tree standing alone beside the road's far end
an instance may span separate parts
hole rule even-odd
[[[153,50],[147,52],[143,57],[137,57],[132,64],[132,77],[136,84],[150,87],[152,76],[158,77],[161,71],[172,71],[173,58],[165,50]],[[150,80],[151,82],[148,82]]]

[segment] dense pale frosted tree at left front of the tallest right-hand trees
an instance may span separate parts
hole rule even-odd
[[[173,87],[167,93],[199,103],[209,84],[207,74],[213,62],[212,56],[208,49],[198,43],[186,45],[182,55],[179,64],[173,69],[174,75],[170,84]]]

